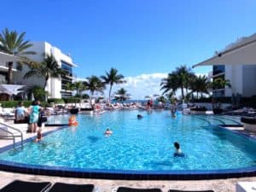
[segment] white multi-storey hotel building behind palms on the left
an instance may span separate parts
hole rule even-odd
[[[60,67],[67,71],[67,75],[61,78],[49,78],[46,90],[49,92],[49,98],[61,98],[72,96],[72,92],[66,90],[66,84],[73,82],[73,67],[77,67],[73,63],[70,55],[65,55],[58,49],[47,42],[31,42],[33,46],[28,49],[35,51],[36,55],[29,55],[28,57],[32,61],[41,62],[44,60],[45,55],[53,55],[55,60],[58,62]],[[17,68],[17,67],[16,67]],[[26,85],[40,85],[44,86],[44,78],[42,77],[31,77],[24,79],[24,74],[29,70],[29,67],[23,65],[22,69],[15,69],[14,71],[14,84],[26,84]]]

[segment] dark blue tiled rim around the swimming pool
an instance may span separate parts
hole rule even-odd
[[[61,126],[53,131],[43,134],[47,136],[55,131],[60,131],[68,126]],[[219,128],[224,128],[220,127]],[[232,131],[227,128],[224,130]],[[255,139],[238,131],[232,131],[241,137]],[[36,139],[30,137],[24,140],[24,143],[32,142]],[[13,148],[10,144],[0,148],[0,153]],[[119,179],[119,180],[203,180],[203,179],[224,179],[233,177],[256,177],[256,166],[236,169],[220,169],[209,171],[182,170],[182,171],[132,171],[132,170],[107,170],[107,169],[84,169],[84,168],[68,168],[63,166],[39,166],[23,163],[12,162],[8,160],[0,160],[0,170],[5,172],[19,172],[34,175],[58,176],[58,177],[84,177],[98,179]]]

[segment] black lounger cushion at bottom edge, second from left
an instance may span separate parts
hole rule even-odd
[[[49,192],[92,192],[93,184],[55,183]]]

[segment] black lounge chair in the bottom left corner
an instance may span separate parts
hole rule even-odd
[[[38,183],[15,180],[0,189],[0,192],[44,192],[50,185],[51,183],[49,182]]]

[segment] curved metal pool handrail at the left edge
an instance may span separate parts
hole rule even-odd
[[[23,134],[19,129],[11,125],[5,124],[3,122],[0,122],[0,131],[2,131],[2,134],[0,134],[0,139],[5,139],[5,140],[12,139],[13,146],[15,148],[16,138],[20,137],[20,144],[21,144],[21,147],[23,147]],[[17,135],[17,133],[19,133],[19,135]]]

